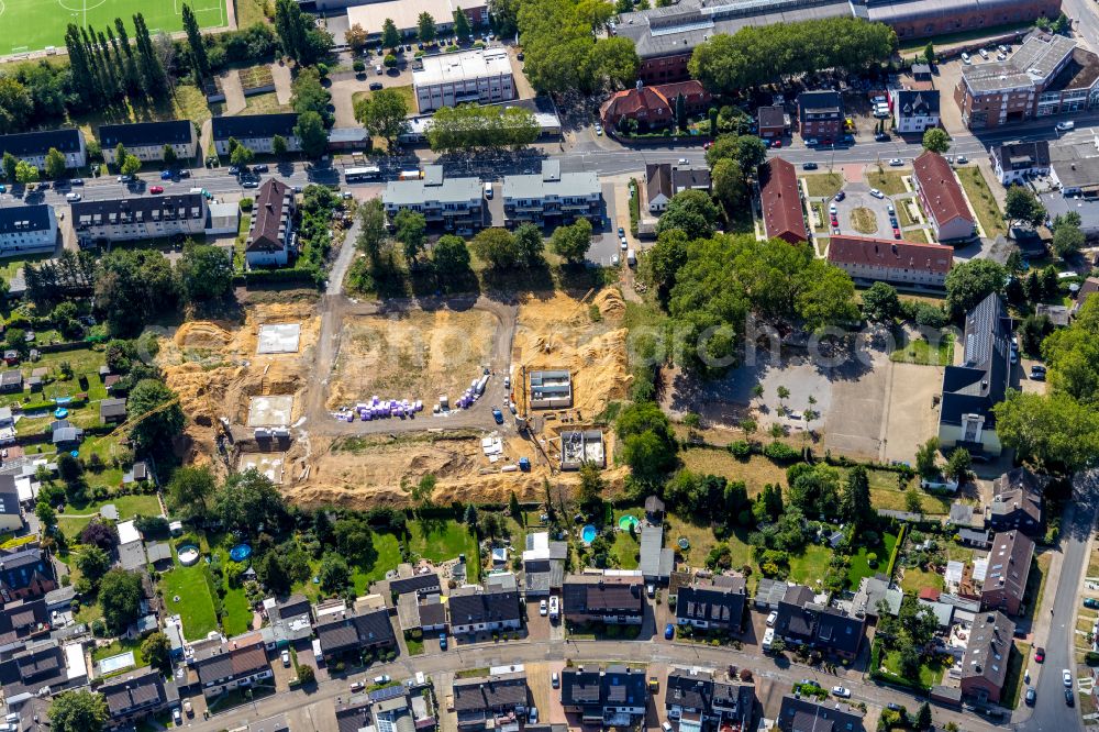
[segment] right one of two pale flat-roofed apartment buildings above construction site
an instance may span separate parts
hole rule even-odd
[[[562,173],[557,158],[542,160],[542,174],[504,176],[503,213],[509,228],[530,221],[543,226],[602,219],[602,188],[593,171]]]

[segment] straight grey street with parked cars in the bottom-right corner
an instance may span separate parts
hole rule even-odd
[[[1076,481],[1075,500],[1065,509],[1062,519],[1059,548],[1063,559],[1059,576],[1048,579],[1057,583],[1057,594],[1052,608],[1050,634],[1045,641],[1045,663],[1041,666],[1035,687],[1037,701],[1032,714],[1026,713],[1025,707],[1015,714],[1018,729],[1035,732],[1067,732],[1080,729],[1077,709],[1065,703],[1065,686],[1061,672],[1064,668],[1076,668],[1073,661],[1076,610],[1079,607],[1079,592],[1088,563],[1088,540],[1096,519],[1097,481],[1099,474],[1096,473],[1083,476]],[[1042,612],[1046,610],[1043,608]],[[1031,668],[1036,668],[1036,665],[1031,665]]]

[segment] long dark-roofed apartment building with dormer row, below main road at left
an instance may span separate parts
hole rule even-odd
[[[73,228],[84,241],[126,242],[206,232],[207,201],[201,193],[144,196],[73,204]]]

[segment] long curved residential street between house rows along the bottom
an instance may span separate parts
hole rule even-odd
[[[729,664],[741,668],[750,668],[756,677],[770,679],[777,684],[790,685],[802,678],[815,678],[824,688],[836,684],[852,689],[854,701],[864,701],[868,706],[884,707],[890,701],[906,705],[914,710],[918,702],[911,696],[885,687],[864,684],[852,674],[843,678],[809,666],[801,666],[786,661],[776,663],[774,658],[750,652],[731,652],[724,648],[713,648],[685,643],[655,642],[611,642],[611,641],[515,641],[497,644],[479,644],[476,646],[455,645],[452,651],[435,655],[415,657],[401,656],[388,665],[371,666],[369,675],[389,674],[395,678],[404,678],[415,672],[437,675],[441,672],[454,672],[462,668],[510,665],[517,663],[542,663],[552,661],[621,661],[639,664],[668,664],[689,666],[697,665],[724,669]],[[355,678],[359,678],[357,674]],[[209,720],[196,720],[188,725],[197,731],[214,732],[215,730],[232,730],[249,721],[258,721],[274,714],[287,713],[307,706],[319,708],[331,706],[337,697],[347,696],[348,679],[332,679],[320,684],[311,694],[288,691],[265,698],[258,709],[252,705],[238,707],[236,710],[218,714]],[[444,696],[441,694],[440,696]],[[933,708],[934,719],[943,724],[956,722],[967,732],[986,732],[997,728],[974,714],[962,714],[941,708]],[[312,716],[317,718],[319,716]],[[1065,728],[1072,729],[1072,728]]]

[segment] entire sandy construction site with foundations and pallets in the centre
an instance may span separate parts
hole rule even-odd
[[[428,475],[436,502],[537,500],[585,462],[623,484],[599,423],[630,386],[623,311],[617,289],[320,317],[259,306],[240,324],[186,323],[158,361],[191,417],[188,459],[255,468],[299,503],[407,504]],[[365,417],[379,396],[425,408]]]

